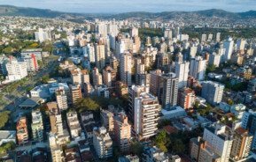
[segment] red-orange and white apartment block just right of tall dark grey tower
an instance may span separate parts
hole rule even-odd
[[[186,110],[193,108],[196,100],[196,93],[190,88],[182,88],[178,93],[178,105]]]

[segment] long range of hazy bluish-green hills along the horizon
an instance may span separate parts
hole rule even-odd
[[[119,14],[85,14],[85,13],[68,13],[62,11],[51,11],[47,9],[35,9],[26,7],[16,7],[12,5],[0,5],[0,16],[25,16],[41,18],[71,18],[71,19],[92,19],[92,18],[151,18],[151,19],[170,19],[170,18],[256,18],[256,11],[230,12],[217,9],[206,11],[163,11],[163,12],[144,12],[134,11]]]

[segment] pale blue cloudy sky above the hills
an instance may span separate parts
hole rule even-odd
[[[0,0],[0,4],[81,13],[127,11],[256,11],[256,0]]]

